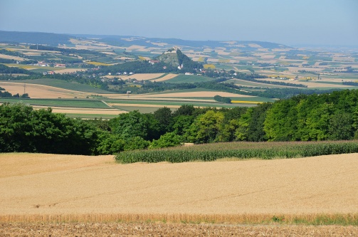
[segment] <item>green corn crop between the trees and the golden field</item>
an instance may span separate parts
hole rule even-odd
[[[191,147],[167,149],[147,149],[120,152],[115,156],[117,162],[205,162],[222,158],[239,159],[277,159],[314,157],[326,154],[346,154],[358,152],[357,141],[337,142],[227,142],[201,144]]]

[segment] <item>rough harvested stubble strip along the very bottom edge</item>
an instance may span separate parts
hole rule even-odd
[[[357,236],[356,226],[231,226],[184,223],[0,223],[1,236]]]

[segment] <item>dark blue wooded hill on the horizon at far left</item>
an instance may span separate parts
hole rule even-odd
[[[0,31],[0,43],[32,43],[58,46],[70,43],[73,36],[60,33]]]

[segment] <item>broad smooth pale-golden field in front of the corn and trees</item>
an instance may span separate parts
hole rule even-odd
[[[357,214],[357,157],[116,164],[112,156],[0,154],[0,214]]]

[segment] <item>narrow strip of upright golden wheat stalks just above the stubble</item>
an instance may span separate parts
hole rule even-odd
[[[358,225],[358,214],[29,214],[0,215],[0,223],[230,223]]]

